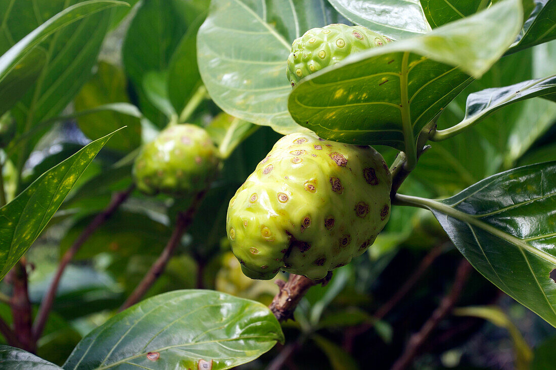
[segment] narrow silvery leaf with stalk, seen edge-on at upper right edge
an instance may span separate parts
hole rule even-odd
[[[553,93],[556,93],[556,75],[469,94],[463,121],[451,128],[437,131],[433,139],[443,140],[454,136],[462,128],[480,122],[481,119],[509,104]]]

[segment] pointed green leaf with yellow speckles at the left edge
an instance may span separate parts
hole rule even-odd
[[[0,278],[31,247],[112,134],[93,141],[49,169],[13,201],[0,208]]]

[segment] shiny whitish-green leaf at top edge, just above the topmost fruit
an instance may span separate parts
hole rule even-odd
[[[396,40],[430,31],[430,26],[418,0],[329,1],[351,22]]]

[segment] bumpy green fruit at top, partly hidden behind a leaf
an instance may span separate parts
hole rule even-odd
[[[287,58],[287,79],[294,87],[301,78],[332,66],[353,53],[390,42],[386,36],[361,26],[329,24],[312,28],[295,39]]]

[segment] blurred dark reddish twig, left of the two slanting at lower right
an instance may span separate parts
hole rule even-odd
[[[376,313],[373,315],[373,318],[375,319],[374,322],[347,328],[343,346],[346,352],[351,353],[355,337],[360,336],[369,329],[373,328],[376,321],[380,321],[390,311],[392,311],[396,304],[398,304],[401,299],[409,293],[411,288],[415,286],[421,276],[423,276],[423,274],[428,270],[430,265],[435,261],[436,258],[440,256],[442,251],[443,246],[441,244],[438,244],[434,248],[430,249],[429,253],[427,253],[426,256],[421,259],[419,266],[415,269],[411,276],[406,279],[405,283],[398,289],[398,291],[396,291],[396,293],[394,293],[394,295],[386,303],[384,303],[383,306],[376,310]]]

